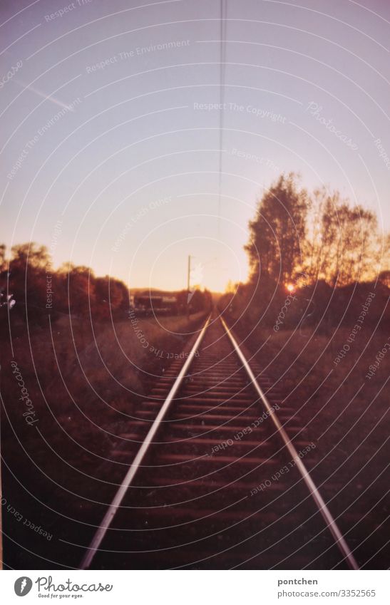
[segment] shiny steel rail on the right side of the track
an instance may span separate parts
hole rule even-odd
[[[294,445],[292,445],[292,442],[289,439],[289,436],[287,435],[286,431],[284,430],[282,424],[280,423],[279,418],[277,418],[277,415],[274,413],[274,409],[270,405],[265,394],[262,392],[262,388],[260,387],[259,383],[257,382],[257,379],[256,379],[254,373],[252,372],[250,365],[247,362],[245,356],[242,354],[240,346],[238,345],[234,336],[232,336],[232,333],[230,332],[230,329],[228,328],[224,319],[222,319],[222,316],[220,316],[220,320],[222,322],[222,326],[225,328],[227,336],[229,336],[229,338],[230,338],[230,342],[232,343],[233,347],[235,348],[235,352],[237,353],[237,355],[240,358],[240,361],[242,362],[243,368],[245,368],[247,375],[250,377],[250,380],[252,381],[252,385],[255,387],[257,393],[260,395],[260,398],[262,399],[262,403],[264,403],[265,408],[267,409],[267,412],[270,415],[270,418],[272,418],[272,422],[274,423],[275,427],[277,428],[277,430],[279,432],[279,435],[282,437],[282,440],[284,441],[284,445],[286,445],[287,450],[289,450],[289,453],[292,456],[292,460],[295,460],[298,470],[302,475],[302,479],[306,483],[306,485],[309,489],[309,492],[312,495],[314,502],[316,503],[316,505],[319,509],[319,512],[321,512],[322,517],[324,518],[324,521],[327,524],[329,531],[332,533],[332,536],[334,537],[334,539],[337,543],[337,546],[339,547],[339,550],[342,552],[344,559],[346,560],[347,564],[349,565],[349,567],[351,569],[359,569],[359,565],[357,564],[356,559],[354,558],[354,555],[351,553],[351,549],[349,549],[349,546],[348,546],[347,542],[345,541],[345,539],[342,535],[342,532],[340,532],[339,527],[337,527],[337,523],[334,520],[334,518],[332,517],[332,513],[329,511],[326,503],[322,499],[322,495],[319,493],[317,486],[315,485],[314,481],[312,480],[312,477],[310,477],[309,471],[307,470],[307,468],[305,467],[301,458],[299,457],[297,450],[295,449]]]

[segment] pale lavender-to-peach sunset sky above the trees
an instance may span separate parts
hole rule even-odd
[[[224,4],[1,1],[1,242],[223,290],[290,171],[389,229],[390,2]]]

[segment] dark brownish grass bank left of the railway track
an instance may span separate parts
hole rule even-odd
[[[155,356],[150,348],[180,353],[188,333],[196,333],[201,325],[201,314],[190,320],[140,319],[137,327],[148,342],[146,348],[128,319],[96,323],[92,329],[87,319],[73,318],[70,324],[64,316],[51,330],[36,326],[30,333],[20,324],[14,326],[14,353],[11,348],[1,351],[3,493],[16,510],[50,531],[53,542],[37,540],[8,514],[6,563],[17,569],[53,567],[34,553],[61,562],[65,547],[59,538],[78,542],[81,526],[71,519],[82,514],[82,507],[89,510],[88,499],[112,497],[115,485],[104,472],[104,461],[111,457],[117,435],[132,430],[133,410],[153,387],[153,374],[158,376],[172,361]],[[23,416],[26,406],[19,400],[13,359],[34,405],[34,426]],[[103,494],[104,488],[108,491]],[[100,514],[97,507],[97,517]]]

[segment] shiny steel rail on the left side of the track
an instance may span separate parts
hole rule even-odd
[[[175,383],[173,383],[173,386],[170,389],[170,392],[168,393],[168,396],[165,399],[163,405],[161,406],[160,411],[158,412],[158,415],[155,417],[155,420],[153,420],[153,424],[151,425],[150,429],[148,430],[148,434],[146,435],[145,440],[143,441],[143,444],[140,446],[140,449],[138,450],[137,455],[135,455],[135,458],[134,458],[133,462],[131,463],[131,465],[128,469],[128,472],[126,472],[125,478],[123,479],[123,482],[120,484],[120,487],[119,487],[118,491],[116,492],[116,495],[113,498],[111,505],[108,507],[108,510],[107,510],[106,514],[104,515],[102,522],[99,525],[98,530],[97,530],[96,534],[94,535],[92,542],[88,546],[87,552],[81,561],[80,569],[88,569],[88,567],[90,567],[90,565],[93,561],[93,557],[95,557],[95,554],[98,551],[98,549],[101,545],[101,542],[103,541],[103,538],[106,535],[107,529],[110,527],[110,525],[113,521],[113,518],[115,517],[116,512],[118,511],[118,507],[120,506],[120,503],[122,502],[123,497],[125,497],[125,493],[127,492],[128,487],[130,487],[131,482],[133,481],[135,474],[137,473],[137,471],[141,465],[141,462],[143,461],[143,458],[145,457],[145,454],[148,452],[149,446],[153,441],[155,433],[157,433],[158,429],[160,428],[160,424],[163,421],[163,418],[165,417],[166,413],[168,412],[168,408],[170,407],[170,404],[172,403],[173,398],[175,397],[176,393],[178,392],[178,389],[181,386],[185,373],[187,372],[190,364],[193,361],[197,348],[200,346],[200,343],[202,342],[203,336],[205,336],[205,331],[207,329],[207,326],[210,324],[210,318],[211,318],[211,314],[208,316],[208,318],[205,322],[205,325],[202,327],[202,331],[200,332],[199,336],[197,337],[197,339],[193,345],[193,348],[191,349],[191,351],[188,355],[188,358],[186,359],[186,361],[183,365],[183,368],[180,370],[180,373],[178,374],[178,377],[176,378]]]

